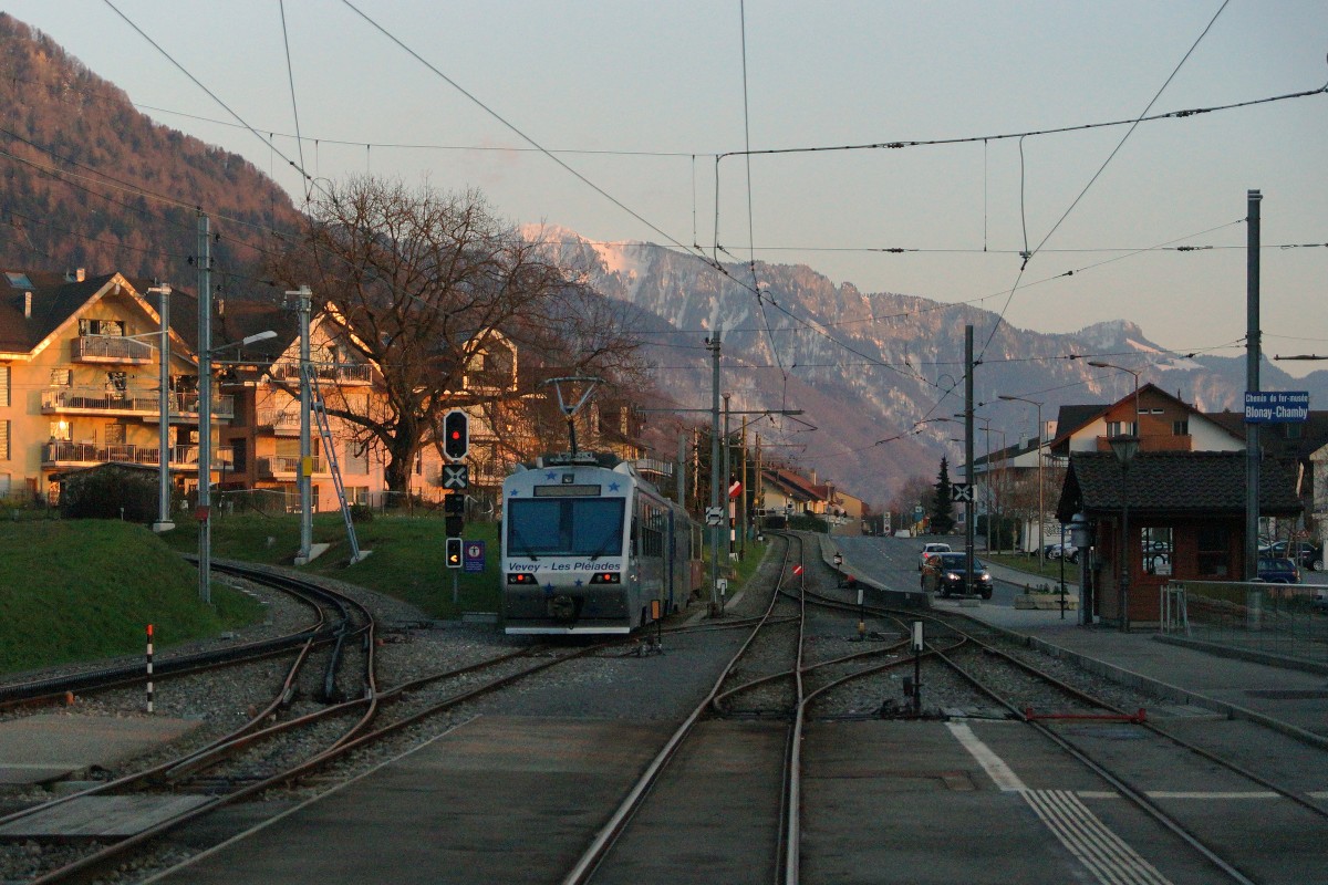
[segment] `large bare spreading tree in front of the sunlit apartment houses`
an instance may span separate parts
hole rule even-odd
[[[329,402],[328,413],[382,447],[390,491],[405,491],[416,455],[440,444],[449,409],[479,407],[517,452],[527,438],[515,425],[533,393],[530,366],[633,374],[637,342],[622,308],[551,253],[473,190],[412,190],[365,176],[331,186],[311,206],[272,271],[287,285],[308,284],[316,304],[331,306],[337,346],[381,373],[368,407]],[[501,357],[505,342],[515,346],[521,373]]]

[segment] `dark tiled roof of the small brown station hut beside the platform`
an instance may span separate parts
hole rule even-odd
[[[1246,508],[1246,452],[1141,451],[1129,470],[1131,511],[1167,515],[1235,515]],[[1076,511],[1120,511],[1121,464],[1112,452],[1072,452],[1056,515],[1068,523]],[[1259,464],[1259,512],[1293,516],[1301,510],[1295,474],[1283,463]]]

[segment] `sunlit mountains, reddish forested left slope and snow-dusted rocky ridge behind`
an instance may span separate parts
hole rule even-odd
[[[5,13],[0,70],[9,110],[0,121],[0,222],[8,232],[0,263],[186,283],[198,207],[218,231],[214,279],[226,293],[271,292],[252,268],[297,212],[267,175],[154,123],[122,90]],[[721,385],[737,413],[732,426],[758,434],[768,460],[815,471],[819,482],[876,508],[908,478],[934,479],[942,456],[961,464],[954,442],[961,425],[939,419],[963,410],[965,325],[975,328],[980,361],[979,454],[1035,434],[1033,406],[1000,394],[1041,402],[1045,423],[1061,405],[1106,403],[1130,391],[1130,374],[1088,360],[1138,370],[1141,382],[1204,411],[1242,407],[1243,356],[1170,353],[1127,320],[1048,334],[972,305],[862,292],[801,264],[713,261],[649,243],[596,243],[556,227],[540,235],[586,281],[635,308],[657,383],[679,409],[709,409],[706,338],[717,332]],[[1328,372],[1293,379],[1264,362],[1260,373],[1266,390],[1308,390],[1312,403],[1328,401]],[[766,410],[801,414],[760,414]]]

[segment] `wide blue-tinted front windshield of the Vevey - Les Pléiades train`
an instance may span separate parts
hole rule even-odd
[[[507,502],[507,556],[619,556],[622,498]]]

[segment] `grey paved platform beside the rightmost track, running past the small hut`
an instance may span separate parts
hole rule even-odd
[[[1328,677],[1275,663],[1211,654],[1166,641],[1150,630],[1080,626],[1077,612],[1015,609],[984,602],[954,608],[1024,637],[1032,647],[1070,658],[1122,685],[1158,694],[1171,703],[1197,705],[1231,718],[1251,719],[1328,748]]]

